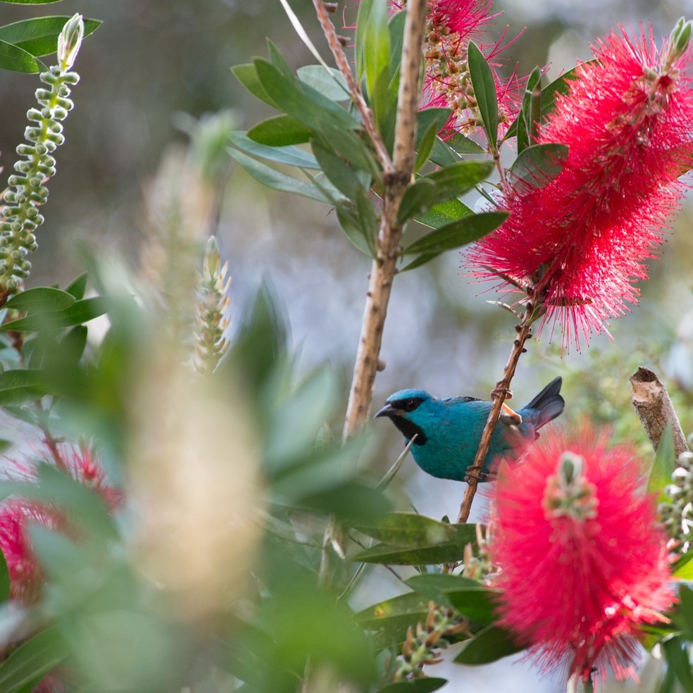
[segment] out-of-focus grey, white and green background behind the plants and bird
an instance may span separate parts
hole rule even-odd
[[[292,7],[327,58],[311,2],[294,0]],[[499,36],[506,25],[508,36],[526,27],[503,54],[508,73],[515,63],[520,74],[550,63],[553,80],[577,59],[588,59],[589,45],[618,24],[637,26],[651,20],[655,37],[661,37],[680,15],[693,14],[693,2],[499,0],[494,11],[503,14],[494,20],[493,35]],[[82,270],[84,246],[125,257],[132,266],[144,265],[146,272],[146,190],[154,180],[157,189],[166,189],[167,176],[175,177],[172,152],[188,142],[182,127],[185,114],[202,118],[227,111],[238,129],[271,115],[229,70],[251,56],[266,55],[265,37],[294,67],[315,62],[278,0],[3,4],[0,23],[75,12],[104,24],[86,40],[77,61],[82,81],[73,92],[75,111],[65,123],[66,143],[58,152],[58,174],[50,185],[29,285],[65,285]],[[347,13],[347,23],[355,16],[354,10]],[[335,20],[339,26],[339,14]],[[33,104],[37,85],[35,75],[0,74],[0,161],[5,173],[23,138],[24,113]],[[261,279],[268,280],[285,310],[301,368],[308,371],[329,362],[342,374],[346,406],[368,259],[349,244],[329,208],[274,193],[230,160],[227,170],[215,175],[224,195],[213,232],[232,276],[232,328],[246,296]],[[170,187],[177,189],[173,183]],[[613,323],[613,341],[601,335],[582,353],[566,354],[561,335],[550,344],[546,330],[531,344],[513,383],[516,404],[563,375],[568,403],[563,425],[587,415],[610,423],[616,438],[634,440],[649,454],[630,408],[628,382],[638,366],[647,366],[667,382],[684,430],[693,430],[692,214],[687,204],[673,222],[661,259],[651,263],[651,280],[640,286],[641,305]],[[208,229],[201,230],[201,235],[206,233]],[[451,252],[397,278],[382,350],[387,368],[377,379],[375,407],[402,387],[423,387],[438,397],[487,397],[501,376],[513,320],[486,302],[499,298],[496,294],[470,285],[459,267],[459,254]],[[382,420],[373,429],[375,447],[366,463],[382,473],[399,453],[401,439]],[[333,430],[339,435],[338,420]],[[456,516],[462,485],[426,477],[411,461],[399,483],[418,511]],[[522,690],[522,682],[515,683],[513,689]],[[537,690],[537,685],[535,678],[527,679],[526,689]],[[552,689],[551,682],[542,685]],[[482,690],[477,685],[473,689]]]

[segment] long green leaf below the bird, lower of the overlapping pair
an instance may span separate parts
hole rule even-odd
[[[428,520],[426,527],[432,529],[435,520]],[[359,551],[351,561],[362,563],[392,563],[399,566],[422,566],[432,563],[454,563],[463,554],[464,547],[476,540],[475,525],[446,525],[437,523],[430,537],[413,535],[407,544],[376,544],[374,547]],[[371,531],[373,528],[371,528]]]

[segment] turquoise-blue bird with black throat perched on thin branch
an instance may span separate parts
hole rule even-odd
[[[561,377],[551,380],[517,412],[503,405],[484,461],[484,474],[497,456],[513,447],[513,438],[517,440],[519,435],[533,441],[539,437],[539,428],[561,414],[565,405],[559,394],[561,382]],[[425,472],[440,479],[465,481],[492,406],[475,397],[436,399],[424,390],[403,389],[391,394],[375,416],[392,419],[406,442],[417,434],[411,454]]]

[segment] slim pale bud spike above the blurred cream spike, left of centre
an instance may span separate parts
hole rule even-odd
[[[224,337],[229,324],[227,292],[231,285],[231,279],[226,278],[227,270],[228,263],[221,265],[219,246],[212,236],[204,254],[195,311],[195,367],[202,372],[211,373],[229,348]]]

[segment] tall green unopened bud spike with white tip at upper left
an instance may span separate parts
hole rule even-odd
[[[61,121],[74,107],[70,87],[80,76],[70,68],[83,36],[82,15],[76,14],[58,37],[58,65],[39,75],[46,85],[36,90],[39,108],[27,111],[32,123],[24,133],[28,143],[17,147],[21,158],[0,207],[0,305],[21,289],[31,270],[27,255],[37,249],[35,231],[44,222],[38,208],[48,199],[46,181],[56,173],[52,152],[65,141]]]

